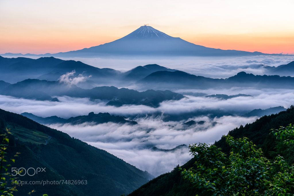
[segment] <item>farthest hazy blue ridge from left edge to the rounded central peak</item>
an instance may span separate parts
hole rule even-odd
[[[0,79],[5,82],[20,82],[26,79],[57,81],[66,74],[73,72],[72,77],[85,77],[88,88],[95,84],[121,80],[121,82],[136,82],[156,71],[179,71],[157,64],[137,66],[127,72],[120,72],[110,68],[98,68],[80,61],[61,60],[54,57],[31,58],[4,58],[0,56]]]

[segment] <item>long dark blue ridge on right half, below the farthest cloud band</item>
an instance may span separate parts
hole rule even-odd
[[[246,72],[226,79],[213,79],[196,76],[180,71],[158,71],[138,80],[137,84],[153,89],[208,89],[231,87],[256,87],[256,88],[294,88],[294,77],[279,75],[253,75]]]

